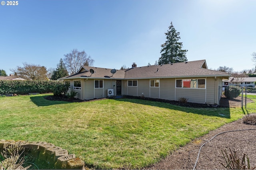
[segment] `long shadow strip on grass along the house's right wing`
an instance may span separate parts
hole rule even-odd
[[[187,102],[186,104],[181,104],[178,101],[162,100],[162,99],[154,99],[154,98],[137,98],[137,97],[120,98],[120,99],[114,99],[114,100],[162,107],[166,109],[174,109],[178,111],[184,111],[186,113],[222,117],[227,119],[231,118],[229,107],[226,107],[226,109],[228,109],[228,113],[226,113],[227,111],[224,111],[225,113],[221,113],[220,111],[218,111],[218,108],[216,110],[216,108],[207,104],[196,104],[196,103],[189,103],[189,102]],[[145,102],[144,100],[147,100],[147,102]],[[205,109],[205,108],[209,108],[209,109]]]

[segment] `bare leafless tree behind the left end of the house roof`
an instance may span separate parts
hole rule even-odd
[[[64,62],[69,74],[75,74],[83,65],[92,66],[94,63],[94,59],[88,56],[84,50],[78,51],[77,49],[73,49],[71,53],[64,55],[64,57]]]

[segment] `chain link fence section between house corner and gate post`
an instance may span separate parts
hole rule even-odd
[[[222,107],[242,107],[244,88],[238,86],[219,87],[219,100]]]

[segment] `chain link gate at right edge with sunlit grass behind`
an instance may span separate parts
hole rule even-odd
[[[246,87],[245,88],[245,108],[256,109],[256,88]]]

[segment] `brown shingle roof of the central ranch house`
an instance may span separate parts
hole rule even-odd
[[[206,76],[230,76],[226,72],[219,72],[207,69],[206,61],[190,61],[183,63],[152,65],[143,67],[133,67],[124,70],[117,70],[115,74],[110,72],[112,69],[97,68],[90,66],[83,66],[86,70],[93,69],[94,74],[90,71],[78,72],[68,78],[113,78],[113,79],[141,79],[141,78],[182,78],[182,77],[206,77]]]

